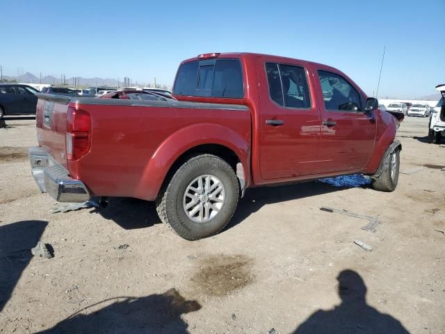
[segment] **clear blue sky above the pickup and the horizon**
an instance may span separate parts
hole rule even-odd
[[[186,58],[258,52],[337,67],[367,95],[445,83],[445,0],[0,1],[0,65],[171,85]]]

